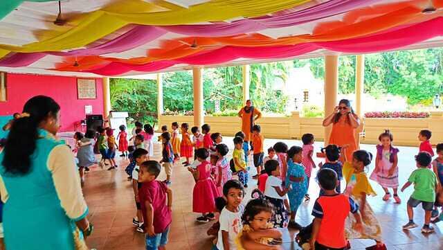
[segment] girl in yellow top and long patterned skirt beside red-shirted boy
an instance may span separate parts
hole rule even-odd
[[[346,180],[345,195],[348,195],[357,205],[361,218],[363,219],[363,231],[355,228],[355,217],[347,216],[346,235],[348,239],[371,239],[377,242],[377,245],[371,247],[374,250],[386,250],[386,245],[381,242],[381,226],[377,218],[366,201],[368,195],[377,195],[369,183],[369,179],[364,172],[365,167],[372,161],[372,154],[365,150],[356,150],[352,154],[352,162],[347,161],[343,165],[343,177]]]

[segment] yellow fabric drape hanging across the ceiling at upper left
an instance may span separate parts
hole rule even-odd
[[[86,46],[127,24],[177,25],[206,21],[224,21],[237,17],[259,17],[272,12],[293,8],[310,0],[214,0],[190,8],[159,11],[160,7],[145,1],[125,1],[97,10],[75,19],[77,26],[41,42],[24,46],[0,44],[0,56],[8,52],[63,51]],[[120,2],[123,3],[123,2]],[[161,8],[163,9],[163,8]],[[147,10],[141,12],[140,10]],[[149,12],[148,12],[149,11]]]

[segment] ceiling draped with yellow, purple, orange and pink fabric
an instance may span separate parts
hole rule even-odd
[[[141,75],[443,45],[441,0],[65,0],[62,26],[58,1],[10,1],[0,71],[17,73]]]

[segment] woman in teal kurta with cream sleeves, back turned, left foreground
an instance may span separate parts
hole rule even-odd
[[[87,249],[92,226],[71,150],[54,135],[60,106],[35,96],[12,124],[0,154],[0,193],[8,250]]]

